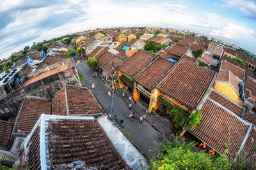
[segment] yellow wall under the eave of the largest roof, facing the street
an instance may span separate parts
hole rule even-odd
[[[188,111],[189,113],[192,113],[194,111],[191,108],[186,107],[186,105],[180,103],[176,99],[173,99],[172,97],[166,96],[165,94],[163,94],[163,92],[161,92],[160,90],[157,90],[155,88],[154,90],[152,90],[152,93],[151,93],[151,96],[150,96],[150,103],[149,103],[149,106],[148,106],[148,111],[149,112],[152,110],[152,108],[155,108],[155,110],[159,109],[159,104],[158,104],[158,97],[159,96],[163,96],[165,99],[170,101],[175,106],[178,106],[182,110]]]

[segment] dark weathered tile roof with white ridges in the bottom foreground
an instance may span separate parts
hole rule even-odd
[[[38,125],[26,146],[26,168],[40,169],[42,165],[49,169],[131,169],[97,119],[45,119],[39,122],[44,124],[45,135]],[[43,143],[47,143],[45,148]]]

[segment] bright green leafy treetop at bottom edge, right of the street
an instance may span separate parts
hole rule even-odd
[[[164,142],[158,145],[158,150],[151,151],[157,155],[157,158],[150,161],[153,170],[230,169],[228,159],[222,155],[212,157],[204,151],[193,152],[191,149],[196,146],[194,141],[186,143],[177,137],[169,141],[164,136]]]

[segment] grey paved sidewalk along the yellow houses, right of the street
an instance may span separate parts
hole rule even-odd
[[[116,93],[122,97],[122,93],[126,94],[125,89],[118,89]],[[124,101],[126,103],[130,103],[128,95],[125,95]],[[166,137],[169,137],[175,128],[173,127],[172,123],[169,120],[164,119],[163,117],[155,114],[152,115],[151,113],[148,113],[147,108],[142,108],[139,104],[132,103],[132,108],[136,110],[137,113],[140,114],[140,116],[144,117],[144,120],[147,120],[147,122],[152,125],[157,131],[161,132],[161,134],[164,134]]]

